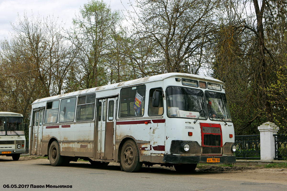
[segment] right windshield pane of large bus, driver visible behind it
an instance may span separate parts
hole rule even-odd
[[[208,117],[212,120],[231,121],[224,93],[205,91]]]

